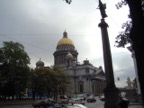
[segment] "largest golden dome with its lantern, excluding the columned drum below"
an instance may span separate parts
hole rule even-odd
[[[74,43],[72,42],[71,39],[69,39],[69,38],[67,37],[67,32],[65,31],[65,32],[63,33],[63,38],[59,40],[57,46],[58,46],[58,45],[72,45],[72,46],[74,46]]]

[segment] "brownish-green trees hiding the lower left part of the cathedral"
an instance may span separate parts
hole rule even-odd
[[[32,72],[31,88],[33,99],[38,95],[48,94],[57,98],[57,94],[67,90],[69,81],[67,74],[58,67],[40,67]]]

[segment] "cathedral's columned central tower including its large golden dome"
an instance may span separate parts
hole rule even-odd
[[[70,65],[73,60],[77,62],[78,52],[75,50],[72,40],[68,38],[66,31],[63,33],[63,38],[58,41],[56,51],[53,53],[53,55],[54,65],[63,68],[66,68],[67,65]],[[68,62],[68,60],[70,60],[70,62]]]

